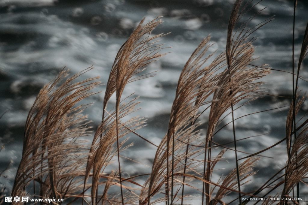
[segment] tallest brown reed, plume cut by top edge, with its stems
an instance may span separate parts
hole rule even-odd
[[[242,0],[237,0],[234,3],[233,10],[231,12],[231,17],[229,20],[228,34],[227,34],[227,45],[226,45],[226,63],[227,68],[222,73],[221,79],[218,82],[218,89],[214,93],[213,101],[211,104],[211,110],[209,115],[209,124],[207,129],[207,138],[205,144],[208,148],[205,148],[205,157],[207,159],[207,165],[204,164],[204,179],[210,180],[209,170],[211,168],[211,144],[214,131],[217,128],[219,118],[228,109],[231,108],[232,123],[233,123],[233,140],[234,140],[234,151],[236,156],[236,170],[237,170],[237,185],[240,197],[240,176],[237,164],[237,148],[236,148],[236,137],[235,137],[235,126],[234,126],[234,116],[233,116],[233,106],[238,102],[248,99],[255,98],[256,96],[252,94],[257,91],[258,85],[261,82],[254,82],[260,79],[264,75],[268,74],[265,69],[261,67],[251,68],[249,65],[253,61],[253,46],[251,43],[254,41],[254,37],[250,37],[251,34],[261,26],[270,22],[272,19],[267,19],[264,22],[248,28],[249,23],[256,16],[248,18],[245,22],[241,23],[241,26],[236,32],[233,32],[236,24],[240,19],[246,14],[248,4],[252,1],[248,1],[243,8],[241,8]],[[260,11],[259,11],[260,12]],[[257,12],[257,14],[259,13]],[[205,194],[202,194],[202,203],[204,201],[204,195],[206,195],[206,204],[210,201],[210,185],[203,184],[203,189]],[[241,201],[240,201],[241,204]]]

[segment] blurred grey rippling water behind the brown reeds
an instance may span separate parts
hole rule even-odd
[[[148,119],[148,126],[138,133],[155,144],[167,131],[169,113],[175,96],[180,71],[199,42],[211,35],[215,44],[212,51],[220,53],[225,49],[226,29],[234,0],[0,0],[0,114],[9,110],[0,120],[1,145],[0,168],[6,178],[1,178],[8,191],[11,191],[14,175],[21,159],[22,137],[27,113],[39,89],[53,79],[64,66],[75,74],[91,65],[95,69],[85,77],[100,76],[107,83],[115,55],[133,28],[142,18],[150,21],[164,16],[164,23],[155,34],[171,32],[161,39],[168,53],[151,64],[148,71],[158,71],[155,77],[131,83],[123,96],[135,93],[140,96],[140,109],[137,114]],[[267,8],[253,21],[260,23],[275,15],[274,21],[255,33],[258,37],[254,64],[269,64],[274,69],[292,72],[292,15],[293,1],[264,0],[249,14]],[[295,29],[295,57],[298,59],[302,37],[308,21],[308,3],[298,1]],[[301,76],[308,79],[304,61]],[[235,118],[271,108],[290,104],[292,75],[273,71],[263,79],[262,88],[266,92],[286,97],[265,95],[235,112]],[[102,93],[88,99],[94,105],[87,109],[89,118],[97,126],[102,115],[104,86]],[[307,82],[300,80],[299,88],[307,89]],[[114,102],[114,98],[111,99]],[[305,113],[304,104],[301,113]],[[287,107],[249,115],[236,120],[237,138],[256,136],[238,142],[238,150],[254,153],[272,145],[285,137]],[[206,115],[202,117],[207,123]],[[229,123],[231,116],[223,121]],[[216,142],[232,141],[232,126],[227,126],[215,136]],[[122,159],[125,176],[148,173],[156,148],[136,136],[130,142],[135,145],[122,155],[141,162],[132,163]],[[232,144],[230,145],[232,147]],[[285,166],[286,144],[279,144],[263,153],[258,161],[252,183],[246,189],[259,187],[268,176]],[[246,154],[239,153],[239,158]],[[213,175],[234,168],[234,152],[228,151]],[[147,166],[149,167],[147,167]],[[116,166],[115,166],[116,169]],[[139,179],[143,183],[143,179]],[[303,186],[302,196],[307,189]],[[243,190],[242,190],[243,191]],[[244,190],[245,191],[245,190]],[[306,192],[305,192],[306,191]],[[193,193],[192,193],[193,194]],[[193,203],[193,202],[192,202]]]

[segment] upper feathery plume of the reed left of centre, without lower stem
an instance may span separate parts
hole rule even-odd
[[[167,34],[150,35],[162,23],[162,20],[156,18],[145,25],[142,25],[143,23],[144,19],[141,20],[127,41],[121,46],[115,57],[103,101],[103,119],[107,102],[111,95],[118,92],[120,97],[127,83],[153,76],[153,73],[136,75],[144,71],[145,66],[164,56],[164,54],[159,53],[163,48],[161,47],[162,44],[157,45],[157,38]],[[146,34],[148,35],[144,37]]]

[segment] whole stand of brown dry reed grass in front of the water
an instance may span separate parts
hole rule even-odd
[[[252,7],[249,6],[251,4]],[[91,90],[100,85],[96,81],[98,77],[78,82],[77,78],[92,67],[72,77],[67,77],[68,71],[63,69],[41,89],[30,109],[22,160],[12,195],[65,199],[68,204],[142,205],[189,204],[191,199],[206,205],[246,204],[248,200],[242,201],[241,197],[265,197],[274,191],[277,196],[285,197],[296,190],[294,197],[299,197],[299,184],[303,183],[308,173],[308,120],[302,120],[302,124],[298,125],[295,117],[306,100],[306,94],[301,96],[298,91],[298,79],[302,79],[299,72],[307,54],[308,26],[297,74],[293,65],[293,100],[287,114],[286,137],[264,150],[245,153],[247,156],[241,159],[237,157],[237,153],[242,151],[237,150],[234,112],[265,94],[260,91],[264,83],[261,79],[271,70],[265,65],[253,65],[253,33],[273,20],[268,18],[252,26],[253,19],[261,11],[249,17],[247,11],[255,5],[252,0],[245,4],[243,0],[235,1],[224,52],[210,52],[212,44],[208,36],[192,53],[180,73],[168,131],[159,145],[137,133],[145,126],[145,119],[128,117],[140,102],[137,98],[122,95],[128,83],[151,77],[153,73],[142,73],[145,67],[166,54],[161,53],[164,47],[157,42],[166,34],[151,34],[162,23],[160,18],[147,24],[143,19],[120,48],[107,81],[102,121],[94,133],[87,116],[82,114],[89,105],[81,103],[96,94]],[[294,14],[295,10],[296,1]],[[107,103],[114,93],[114,107],[107,110]],[[206,110],[209,111],[208,124],[202,127],[198,119]],[[225,126],[222,122],[228,115],[232,116],[230,139],[234,148],[213,140]],[[146,175],[143,184],[135,180],[141,175],[128,178],[122,175],[120,157],[121,152],[130,146],[126,144],[129,133],[157,147],[151,173]],[[256,173],[254,166],[258,157],[263,157],[260,154],[284,141],[288,155],[286,166],[257,190],[243,191],[242,187]],[[214,149],[219,150],[218,154],[213,154],[217,151],[214,152]],[[229,173],[215,181],[212,177],[215,166],[224,159],[227,150],[234,152],[235,164]],[[117,169],[108,171],[114,163]],[[192,191],[195,194],[188,195]],[[234,199],[225,201],[226,196],[233,196]],[[264,204],[289,202],[266,201]]]

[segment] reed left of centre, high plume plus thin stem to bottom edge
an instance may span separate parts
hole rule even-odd
[[[122,93],[124,91],[125,85],[130,81],[135,81],[140,79],[131,79],[132,76],[140,73],[146,65],[154,61],[154,59],[163,56],[159,51],[161,49],[160,45],[155,45],[152,40],[161,37],[163,34],[155,35],[154,37],[146,37],[141,39],[145,34],[151,33],[156,26],[161,23],[161,20],[149,22],[145,26],[142,26],[144,19],[140,22],[128,40],[122,45],[120,51],[118,52],[113,68],[109,75],[107,89],[104,98],[103,109],[106,108],[107,101],[112,93],[116,93],[116,103],[115,103],[115,115],[116,115],[116,136],[117,136],[117,155],[119,164],[119,175],[120,175],[120,185],[121,185],[121,199],[122,204],[124,204],[123,189],[121,181],[121,166],[120,166],[120,150],[119,150],[119,106]],[[142,76],[141,78],[144,78]],[[104,113],[103,113],[104,119]]]

